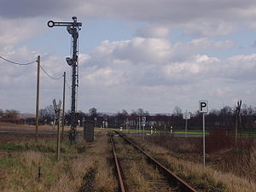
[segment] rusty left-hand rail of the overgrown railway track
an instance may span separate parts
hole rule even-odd
[[[110,136],[110,142],[113,150],[113,159],[114,159],[114,164],[118,173],[119,177],[119,187],[121,189],[121,192],[128,192],[128,189],[126,188],[125,181],[124,181],[124,174],[122,172],[121,166],[119,164],[119,160],[117,158],[115,148],[114,148],[114,143],[113,143],[113,136]]]

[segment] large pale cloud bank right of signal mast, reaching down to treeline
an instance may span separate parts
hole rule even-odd
[[[154,49],[156,45],[159,49]],[[160,108],[168,105],[170,111],[176,105],[196,110],[196,101],[202,99],[201,96],[212,101],[212,108],[222,105],[218,101],[232,106],[230,101],[241,96],[240,90],[247,90],[248,82],[256,83],[253,78],[256,55],[236,55],[221,60],[200,52],[229,49],[233,45],[230,41],[209,38],[173,45],[163,38],[104,41],[88,56],[89,60],[81,63],[80,91],[89,91],[91,99],[95,96],[95,103],[102,110],[115,110],[114,106],[127,110],[133,109],[132,106],[146,108],[148,103],[151,104],[146,109],[154,112],[166,111]],[[165,59],[160,59],[163,49]],[[185,50],[183,60],[177,59],[181,50]],[[106,98],[108,104],[104,102]],[[252,99],[248,96],[247,101]]]

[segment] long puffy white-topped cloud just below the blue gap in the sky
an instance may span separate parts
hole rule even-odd
[[[210,38],[196,38],[188,43],[173,44],[166,38],[131,38],[124,41],[103,41],[85,65],[91,66],[138,66],[165,65],[176,61],[187,61],[201,51],[229,49],[232,41],[214,41]]]

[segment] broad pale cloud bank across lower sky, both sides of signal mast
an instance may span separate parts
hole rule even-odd
[[[210,38],[195,38],[183,44],[172,44],[166,38],[103,41],[90,54],[80,55],[79,109],[87,111],[86,108],[96,107],[115,112],[121,108],[142,107],[154,113],[172,112],[175,106],[197,108],[196,101],[201,96],[209,100],[214,98],[212,108],[218,108],[216,99],[221,101],[224,97],[224,102],[233,101],[241,96],[240,90],[247,90],[248,83],[256,83],[253,74],[255,54],[235,55],[224,60],[201,54],[205,49],[229,49],[232,46],[230,41]],[[8,46],[0,49],[0,53],[8,55],[10,60],[22,62],[42,55],[41,64],[49,75],[60,77],[67,71],[67,81],[70,82],[71,68],[63,63],[65,58],[61,56]],[[26,111],[33,112],[36,65],[16,67],[0,61],[0,75],[1,101],[10,103],[1,108],[19,109],[25,105]],[[61,99],[62,83],[41,72],[42,108],[53,99]],[[67,93],[70,94],[69,89]],[[16,99],[17,94],[22,104]],[[68,94],[67,98],[70,98]],[[253,101],[251,97],[247,96],[247,101]]]

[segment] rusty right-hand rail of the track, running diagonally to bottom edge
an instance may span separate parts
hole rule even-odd
[[[181,179],[180,177],[177,177],[176,174],[171,172],[169,169],[166,168],[166,166],[163,166],[160,164],[159,161],[154,160],[153,157],[151,157],[149,154],[147,154],[142,148],[138,147],[137,144],[131,142],[131,140],[127,137],[125,137],[123,134],[119,133],[118,131],[115,131],[117,134],[119,134],[120,137],[123,137],[127,143],[130,143],[134,148],[137,148],[141,153],[145,154],[145,156],[148,158],[148,160],[157,166],[163,174],[170,179],[170,182],[173,184],[176,184],[179,189],[182,192],[198,192],[196,189],[192,188],[189,183],[186,183]]]

